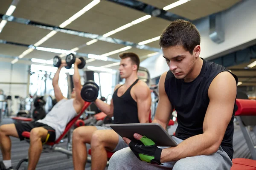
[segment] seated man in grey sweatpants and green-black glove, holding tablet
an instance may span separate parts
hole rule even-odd
[[[176,20],[167,26],[160,47],[169,71],[160,77],[153,123],[166,129],[175,108],[178,126],[172,138],[178,145],[158,148],[135,133],[143,144],[124,138],[130,148],[114,153],[108,169],[230,170],[237,77],[199,57],[200,34],[190,22]]]

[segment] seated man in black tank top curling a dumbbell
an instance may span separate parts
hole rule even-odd
[[[108,105],[96,99],[96,106],[110,117],[113,123],[147,123],[151,92],[145,82],[137,77],[140,59],[137,54],[125,52],[119,54],[120,76],[125,79],[124,85],[116,85]],[[91,144],[91,169],[104,170],[107,164],[107,150],[115,152],[128,145],[110,127],[82,126],[73,131],[72,139],[73,164],[75,170],[84,170],[87,161],[86,143]]]

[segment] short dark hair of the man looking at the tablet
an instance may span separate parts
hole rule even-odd
[[[161,34],[159,45],[162,48],[182,45],[193,54],[196,45],[200,45],[200,34],[194,24],[185,20],[175,20]]]

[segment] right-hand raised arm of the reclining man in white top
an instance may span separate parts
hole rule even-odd
[[[76,58],[78,59],[78,58]],[[81,110],[81,107],[84,105],[84,100],[81,98],[81,80],[80,75],[78,71],[78,65],[79,63],[76,61],[74,63],[74,74],[73,74],[73,84],[75,88],[76,98],[74,100],[74,108],[76,110],[76,113],[79,113]]]

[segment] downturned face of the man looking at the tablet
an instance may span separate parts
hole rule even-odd
[[[198,46],[195,47],[193,54],[190,54],[181,45],[162,48],[163,57],[176,79],[184,79],[192,72],[196,57],[200,54],[200,46]],[[197,50],[199,53],[195,52]]]

